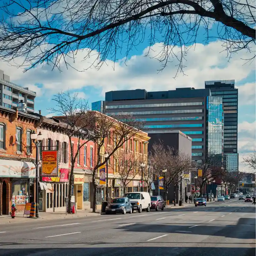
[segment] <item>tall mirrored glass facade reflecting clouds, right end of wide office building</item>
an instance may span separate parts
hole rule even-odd
[[[223,154],[223,105],[219,97],[207,97],[207,142],[208,152]]]

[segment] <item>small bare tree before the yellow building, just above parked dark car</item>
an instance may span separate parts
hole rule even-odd
[[[126,187],[129,182],[131,182],[136,175],[139,175],[139,167],[142,160],[136,156],[134,152],[130,152],[122,147],[114,154],[114,161],[116,161],[118,174],[126,192]]]

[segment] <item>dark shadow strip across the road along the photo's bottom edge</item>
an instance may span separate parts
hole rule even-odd
[[[74,245],[73,245],[74,246]],[[83,247],[83,248],[31,248],[31,249],[0,249],[0,255],[9,256],[25,256],[25,255],[177,255],[177,256],[191,256],[191,255],[207,255],[207,256],[255,256],[255,248],[240,248],[240,247],[159,247],[159,246],[139,246],[139,247]]]

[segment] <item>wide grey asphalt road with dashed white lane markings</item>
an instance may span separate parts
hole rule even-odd
[[[0,226],[0,255],[255,256],[255,206],[229,200]]]

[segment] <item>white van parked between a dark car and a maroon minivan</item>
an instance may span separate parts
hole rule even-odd
[[[139,213],[142,210],[150,211],[151,198],[148,192],[130,192],[126,193],[125,197],[128,197],[132,205],[132,212],[137,210]]]

